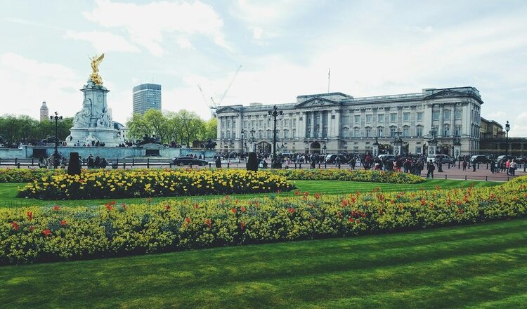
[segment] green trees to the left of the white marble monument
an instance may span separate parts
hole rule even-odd
[[[70,135],[73,118],[58,121],[58,138],[65,140]],[[36,144],[50,136],[55,136],[55,121],[38,121],[27,115],[0,117],[0,136],[4,143],[18,144],[22,140]]]

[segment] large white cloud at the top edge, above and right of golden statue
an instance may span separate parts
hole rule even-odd
[[[83,13],[88,20],[102,27],[126,29],[130,40],[147,48],[152,55],[164,54],[164,34],[169,33],[212,37],[218,46],[232,51],[221,32],[223,20],[212,6],[200,1],[140,5],[98,0],[96,4],[93,11]]]

